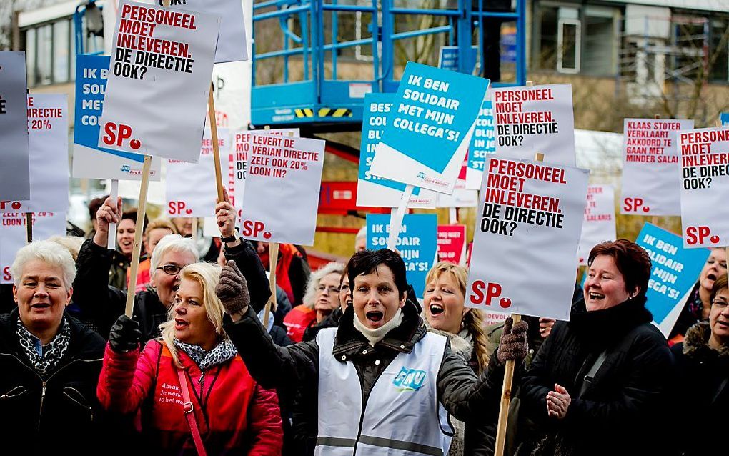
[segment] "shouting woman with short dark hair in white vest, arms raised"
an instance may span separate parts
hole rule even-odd
[[[252,376],[269,388],[305,385],[303,394],[316,398],[303,413],[313,424],[311,434],[299,437],[304,454],[442,455],[453,436],[448,413],[495,421],[502,366],[526,355],[526,324],[504,331],[477,379],[445,336],[426,330],[407,299],[405,263],[397,253],[357,252],[347,271],[352,304],[338,328],[289,347],[273,344],[254,311],[228,290],[228,280],[234,290],[241,279],[233,270],[224,270],[217,290],[230,316],[225,331]]]

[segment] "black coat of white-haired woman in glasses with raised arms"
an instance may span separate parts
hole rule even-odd
[[[112,250],[96,245],[93,239],[87,239],[76,260],[77,274],[74,280],[74,304],[80,309],[79,319],[98,328],[104,339],[109,339],[109,330],[124,313],[127,299],[126,290],[106,285],[112,253]],[[225,258],[235,260],[236,266],[246,277],[251,304],[259,312],[271,293],[265,270],[253,246],[241,239],[241,244],[233,249],[225,247]],[[134,296],[134,316],[141,325],[142,346],[160,336],[160,325],[167,321],[167,312],[167,306],[160,302],[157,293],[151,288]]]

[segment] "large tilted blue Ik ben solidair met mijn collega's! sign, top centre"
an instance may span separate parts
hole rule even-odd
[[[488,82],[408,62],[370,172],[452,193]]]

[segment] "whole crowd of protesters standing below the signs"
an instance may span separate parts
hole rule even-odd
[[[499,325],[464,305],[463,266],[435,264],[418,301],[402,258],[365,250],[363,232],[346,263],[313,272],[282,244],[264,326],[269,246],[241,239],[227,201],[217,241],[194,241],[184,220],[145,222],[136,290],[136,212],[105,197],[90,215],[85,240],[20,249],[2,295],[0,428],[24,453],[493,455],[508,361],[508,455],[722,447],[724,250],[712,250],[672,347],[645,306],[650,258],[623,239],[593,247],[569,321]]]

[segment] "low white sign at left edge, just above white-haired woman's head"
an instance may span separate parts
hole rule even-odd
[[[25,246],[26,215],[23,212],[0,214],[0,284],[12,283],[10,266],[15,254]],[[38,212],[33,215],[33,239],[48,239],[50,236],[66,236],[65,212]]]

